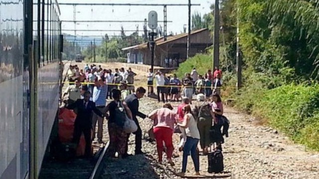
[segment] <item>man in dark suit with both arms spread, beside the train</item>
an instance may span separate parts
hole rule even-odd
[[[91,157],[91,130],[92,130],[92,115],[93,111],[103,117],[104,114],[95,107],[95,103],[90,101],[90,91],[84,92],[84,99],[77,99],[74,103],[68,105],[66,108],[77,108],[77,115],[74,122],[73,142],[77,145],[80,142],[80,137],[83,132],[85,138],[85,157]]]

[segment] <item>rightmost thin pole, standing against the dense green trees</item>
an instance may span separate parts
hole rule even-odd
[[[242,62],[241,57],[239,55],[240,49],[239,49],[239,4],[237,0],[237,31],[236,31],[236,70],[237,70],[237,90],[241,88],[242,85]]]

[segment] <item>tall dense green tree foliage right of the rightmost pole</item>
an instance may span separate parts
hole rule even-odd
[[[240,0],[238,7],[247,66],[266,74],[289,67],[305,79],[316,77],[318,0]]]

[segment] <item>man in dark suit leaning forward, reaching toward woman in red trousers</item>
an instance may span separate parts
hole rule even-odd
[[[146,89],[140,87],[136,90],[136,93],[130,94],[125,98],[125,102],[128,104],[130,110],[132,111],[133,120],[135,121],[136,125],[138,126],[138,130],[133,133],[133,134],[135,134],[135,155],[143,154],[143,152],[142,152],[142,130],[141,130],[139,121],[137,119],[137,116],[139,116],[143,119],[147,117],[145,114],[143,114],[142,112],[139,111],[139,99],[142,98],[145,93],[146,93]],[[129,142],[129,137],[130,137],[130,134],[128,135],[127,142]],[[128,143],[126,145],[125,152],[126,152],[126,154],[124,157],[128,157],[129,156],[127,153],[128,152]]]

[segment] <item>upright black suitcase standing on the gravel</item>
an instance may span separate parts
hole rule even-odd
[[[224,171],[224,157],[219,149],[208,153],[208,173],[220,173]]]

